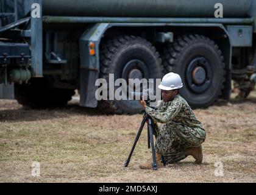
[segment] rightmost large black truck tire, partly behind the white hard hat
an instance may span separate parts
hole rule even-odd
[[[162,55],[165,72],[180,74],[180,94],[192,108],[206,108],[221,95],[225,64],[221,50],[203,35],[183,35],[168,44]]]

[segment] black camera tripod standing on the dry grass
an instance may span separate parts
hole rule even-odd
[[[153,138],[153,134],[156,135],[156,132],[155,132],[156,124],[154,123],[154,121],[151,118],[151,116],[149,116],[145,112],[145,110],[143,110],[143,120],[141,122],[140,129],[138,130],[137,136],[136,136],[135,141],[133,143],[132,150],[130,151],[129,157],[126,160],[126,163],[124,163],[124,167],[127,167],[129,165],[129,163],[130,163],[130,158],[132,157],[133,151],[135,149],[135,146],[136,146],[138,140],[140,139],[141,132],[142,132],[146,122],[148,123],[148,148],[152,149],[152,157],[153,157],[152,169],[153,170],[157,170],[158,169],[157,168],[157,160],[155,158],[155,146],[154,146],[154,138]]]

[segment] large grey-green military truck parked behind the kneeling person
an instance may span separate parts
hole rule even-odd
[[[65,105],[78,90],[82,107],[137,113],[138,101],[98,101],[96,80],[172,71],[205,108],[256,67],[255,10],[255,0],[1,0],[0,82],[24,106]]]

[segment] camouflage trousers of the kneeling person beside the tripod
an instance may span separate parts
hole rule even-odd
[[[201,146],[206,137],[204,129],[193,129],[177,122],[168,122],[156,131],[155,151],[163,155],[166,164],[187,158],[186,149]]]

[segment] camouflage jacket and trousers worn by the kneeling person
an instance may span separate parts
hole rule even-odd
[[[204,127],[179,94],[170,102],[162,101],[157,109],[146,107],[146,113],[155,122],[163,123],[156,129],[155,151],[163,155],[165,163],[183,160],[186,149],[205,141]]]

